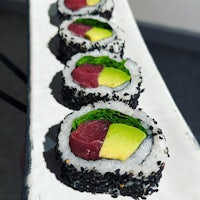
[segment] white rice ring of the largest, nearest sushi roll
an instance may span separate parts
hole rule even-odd
[[[88,113],[91,110],[106,108],[122,112],[134,118],[141,119],[143,127],[147,130],[148,137],[140,145],[138,150],[126,161],[109,159],[87,161],[78,156],[75,156],[69,147],[69,135],[71,133],[73,120]],[[150,126],[153,127],[152,130],[150,130]],[[81,167],[83,167],[88,170],[96,169],[98,172],[104,174],[106,172],[115,172],[115,170],[120,169],[120,174],[124,174],[125,172],[138,174],[142,171],[144,176],[148,176],[152,172],[159,170],[159,166],[157,164],[158,161],[165,162],[168,157],[168,148],[166,146],[164,135],[152,134],[157,133],[159,130],[160,129],[156,126],[154,120],[148,117],[141,110],[133,110],[122,102],[99,102],[94,104],[94,106],[88,105],[83,107],[81,110],[75,111],[64,119],[61,125],[60,133],[58,135],[58,150],[62,154],[62,160],[68,160],[69,163],[72,164],[77,170],[81,170]]]

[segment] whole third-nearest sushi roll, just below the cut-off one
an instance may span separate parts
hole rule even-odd
[[[115,24],[100,17],[65,20],[59,28],[59,56],[66,63],[76,53],[104,49],[123,55],[123,32]]]

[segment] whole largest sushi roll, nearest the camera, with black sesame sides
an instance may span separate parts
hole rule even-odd
[[[61,124],[56,153],[69,187],[134,199],[158,191],[169,157],[156,121],[114,101],[69,114]]]

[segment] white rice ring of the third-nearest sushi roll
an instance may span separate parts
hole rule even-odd
[[[102,17],[98,16],[84,16],[83,19],[94,19],[98,20],[104,23],[108,23],[112,27],[112,36],[97,42],[92,42],[88,39],[85,39],[83,37],[79,37],[72,33],[68,26],[72,24],[76,19],[79,19],[80,17],[73,17],[71,20],[65,20],[61,23],[59,27],[59,35],[62,37],[62,39],[65,41],[66,45],[70,45],[71,43],[74,44],[80,44],[82,48],[85,48],[86,50],[92,50],[92,49],[104,49],[107,51],[113,51],[116,54],[120,54],[123,51],[124,47],[124,37],[123,37],[123,31],[114,23],[111,23],[107,20],[105,20]]]

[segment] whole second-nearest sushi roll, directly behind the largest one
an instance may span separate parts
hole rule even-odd
[[[99,100],[119,100],[135,108],[142,92],[140,67],[104,50],[74,55],[62,76],[63,101],[74,110]]]

